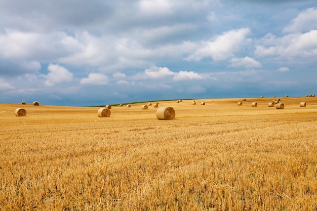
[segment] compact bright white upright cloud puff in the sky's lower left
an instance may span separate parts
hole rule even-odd
[[[73,79],[73,74],[60,65],[50,64],[48,70],[50,72],[45,76],[46,86],[54,86],[55,83],[69,82]]]

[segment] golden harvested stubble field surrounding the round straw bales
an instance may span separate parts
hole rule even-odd
[[[317,210],[317,99],[272,99],[0,104],[0,210]]]

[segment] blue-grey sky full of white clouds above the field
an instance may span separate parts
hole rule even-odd
[[[0,0],[0,103],[310,94],[315,0]]]

